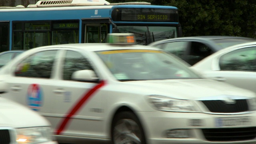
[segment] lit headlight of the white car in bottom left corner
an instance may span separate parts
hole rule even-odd
[[[52,140],[50,127],[17,128],[18,144],[35,144]]]

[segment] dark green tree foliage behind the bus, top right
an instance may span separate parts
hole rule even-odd
[[[176,6],[184,36],[256,38],[256,0],[108,0]]]

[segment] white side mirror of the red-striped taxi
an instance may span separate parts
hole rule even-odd
[[[96,76],[93,70],[78,70],[71,76],[72,80],[87,81],[87,82],[98,82],[99,78]]]

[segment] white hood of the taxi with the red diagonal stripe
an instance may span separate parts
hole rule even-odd
[[[145,80],[128,82],[133,91],[140,91],[143,87],[148,95],[170,96],[177,99],[198,100],[210,96],[246,96],[252,98],[255,94],[249,90],[238,88],[224,82],[208,79],[190,80]]]

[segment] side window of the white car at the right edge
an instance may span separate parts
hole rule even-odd
[[[256,47],[234,50],[220,57],[220,70],[256,71]]]

